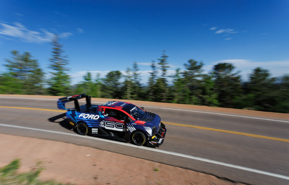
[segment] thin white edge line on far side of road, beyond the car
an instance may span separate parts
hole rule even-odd
[[[19,97],[0,97],[0,98],[19,98]],[[40,98],[22,98],[22,99],[40,99]],[[56,99],[45,99],[45,100],[56,100]],[[81,102],[86,102],[86,101],[81,101]],[[103,102],[92,101],[91,103],[103,103]],[[144,106],[144,107],[150,107],[150,106]],[[203,111],[196,111],[196,110],[172,109],[172,108],[163,108],[163,107],[150,107],[150,108],[200,112],[200,113],[207,113],[207,114],[218,114],[218,115],[224,115],[224,116],[236,116],[236,117],[242,117],[242,118],[261,119],[261,120],[267,120],[267,121],[279,121],[279,122],[289,123],[289,121],[282,121],[282,120],[276,120],[276,119],[264,119],[264,118],[256,118],[256,117],[249,117],[249,116],[238,116],[238,115],[232,115],[232,114],[221,114],[221,113],[215,113],[215,112],[203,112]]]

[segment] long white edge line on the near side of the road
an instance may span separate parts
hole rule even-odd
[[[222,166],[228,166],[231,168],[241,169],[244,171],[250,171],[250,172],[260,173],[263,175],[269,175],[272,177],[277,177],[277,178],[289,180],[289,176],[280,175],[277,173],[271,173],[271,172],[267,172],[267,171],[256,170],[256,169],[247,168],[244,166],[238,166],[238,165],[229,164],[229,163],[225,163],[225,162],[219,162],[219,161],[200,158],[200,157],[194,157],[194,156],[190,156],[190,155],[186,155],[186,154],[182,154],[182,153],[176,153],[176,152],[172,152],[172,151],[165,151],[165,150],[160,150],[160,149],[153,149],[153,148],[148,148],[148,147],[136,146],[136,145],[132,145],[132,144],[128,144],[128,143],[121,143],[119,141],[113,141],[113,140],[102,139],[102,138],[97,138],[97,137],[90,137],[90,136],[82,136],[82,135],[78,135],[78,134],[70,134],[70,133],[65,133],[65,132],[57,132],[57,131],[53,131],[53,130],[44,130],[44,129],[31,128],[31,127],[22,127],[22,126],[18,126],[18,125],[7,125],[7,124],[1,124],[0,123],[0,126],[29,129],[29,130],[36,130],[36,131],[41,131],[41,132],[50,132],[50,133],[54,133],[54,134],[63,134],[63,135],[76,136],[76,137],[82,137],[82,138],[87,138],[87,139],[100,140],[100,141],[104,141],[104,142],[108,142],[108,143],[114,143],[114,144],[118,144],[118,145],[135,147],[135,148],[139,148],[139,149],[143,149],[143,150],[150,150],[150,151],[155,151],[155,152],[159,152],[159,153],[165,153],[165,154],[169,154],[169,155],[173,155],[173,156],[179,156],[179,157],[199,160],[199,161],[203,161],[203,162],[209,162],[209,163],[218,164],[218,165],[222,165]]]

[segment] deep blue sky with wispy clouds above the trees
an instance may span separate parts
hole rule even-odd
[[[243,81],[255,67],[289,73],[289,1],[4,1],[0,0],[0,72],[10,51],[29,51],[49,72],[51,38],[60,36],[72,84],[86,71],[139,64],[142,83],[162,50],[173,74],[189,59],[205,72],[231,62]]]

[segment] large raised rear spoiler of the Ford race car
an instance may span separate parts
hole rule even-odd
[[[59,109],[68,110],[67,108],[65,108],[65,103],[74,101],[75,109],[77,111],[80,111],[80,106],[79,106],[78,100],[82,99],[82,98],[86,99],[86,108],[90,108],[91,107],[91,100],[90,100],[91,97],[88,95],[85,95],[85,93],[82,93],[79,95],[74,95],[74,96],[59,98],[57,100],[57,106]]]

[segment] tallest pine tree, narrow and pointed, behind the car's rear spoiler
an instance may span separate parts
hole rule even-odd
[[[59,43],[58,35],[55,35],[52,41],[52,57],[49,58],[49,68],[53,70],[51,78],[48,81],[49,93],[54,96],[69,95],[70,90],[70,76],[66,73],[69,71],[67,65],[69,64],[67,56],[63,56],[64,50]]]

